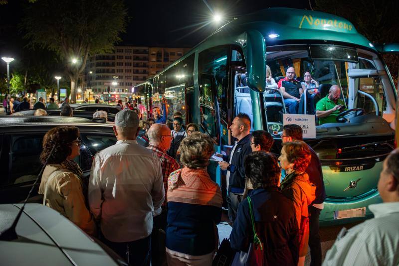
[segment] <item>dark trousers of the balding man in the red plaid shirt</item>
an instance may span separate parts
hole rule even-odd
[[[166,266],[165,231],[167,209],[162,207],[160,215],[154,216],[153,232],[151,233],[151,265]],[[163,232],[160,232],[160,229]]]

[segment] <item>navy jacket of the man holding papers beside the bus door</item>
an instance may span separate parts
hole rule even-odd
[[[237,142],[235,147],[231,164],[227,167],[227,171],[230,171],[230,178],[228,183],[228,191],[233,193],[243,193],[245,187],[245,169],[244,159],[245,156],[252,152],[251,148],[252,135],[248,134],[240,141]],[[230,161],[230,156],[223,155],[223,160],[226,162]]]

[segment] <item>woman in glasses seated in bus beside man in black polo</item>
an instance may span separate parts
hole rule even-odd
[[[301,102],[299,103],[299,114],[309,114],[309,115],[314,115],[315,114],[315,104],[314,104],[314,98],[317,95],[317,91],[319,89],[319,83],[312,78],[312,75],[310,74],[310,71],[305,71],[303,73],[303,82],[301,82],[301,86],[303,91],[305,92],[306,89],[306,111],[304,110],[304,96],[305,94],[303,93],[301,95]]]

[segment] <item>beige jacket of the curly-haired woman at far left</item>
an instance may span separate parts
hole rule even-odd
[[[59,170],[48,184],[46,206],[71,220],[87,234],[95,236],[96,226],[85,205],[81,180],[70,170],[60,167],[58,164],[46,166],[41,177],[39,194],[44,194],[47,180],[54,171]]]

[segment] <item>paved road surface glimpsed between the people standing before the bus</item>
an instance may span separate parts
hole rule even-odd
[[[227,220],[227,217],[223,213],[222,221],[219,225],[217,225],[217,229],[219,231],[219,239],[220,242],[224,239],[229,237],[231,232],[231,226],[224,222]],[[326,256],[327,251],[333,246],[335,239],[337,238],[338,233],[341,231],[343,227],[347,229],[357,225],[359,223],[352,223],[346,225],[339,225],[339,226],[328,226],[320,228],[320,238],[321,238],[321,248],[322,248],[322,258]],[[306,256],[305,265],[310,265],[310,254],[308,251],[308,255]]]

